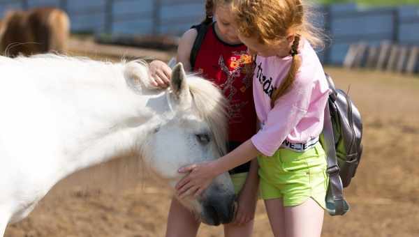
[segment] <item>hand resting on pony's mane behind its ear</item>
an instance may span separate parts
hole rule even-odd
[[[154,60],[149,63],[149,70],[152,76],[152,85],[159,88],[166,88],[170,86],[170,75],[172,75],[172,69],[169,66],[159,60]]]

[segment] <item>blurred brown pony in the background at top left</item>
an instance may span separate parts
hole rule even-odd
[[[58,8],[8,11],[0,21],[0,54],[64,53],[69,32],[68,15]]]

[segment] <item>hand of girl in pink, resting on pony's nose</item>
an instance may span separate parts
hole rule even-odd
[[[179,173],[189,173],[175,186],[177,196],[181,199],[187,196],[198,197],[210,186],[217,175],[214,161],[182,167]]]

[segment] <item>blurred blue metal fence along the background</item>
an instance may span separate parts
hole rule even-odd
[[[73,32],[179,36],[204,17],[196,0],[0,0],[0,17],[9,9],[57,6],[67,11]],[[319,56],[341,65],[349,45],[383,40],[419,45],[419,6],[360,8],[355,3],[316,7],[314,22],[331,43]]]

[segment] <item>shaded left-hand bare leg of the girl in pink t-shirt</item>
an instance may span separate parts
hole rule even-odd
[[[275,237],[285,237],[285,214],[284,204],[281,198],[265,200],[267,217]],[[287,236],[288,237],[288,236]]]

